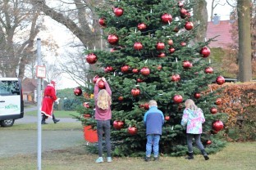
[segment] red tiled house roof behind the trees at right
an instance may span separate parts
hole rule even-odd
[[[210,42],[209,47],[227,47],[234,41],[232,40],[231,35],[231,22],[230,20],[220,20],[217,25],[214,25],[213,22],[208,22],[206,38],[214,38],[213,42]],[[217,40],[217,41],[215,41]]]

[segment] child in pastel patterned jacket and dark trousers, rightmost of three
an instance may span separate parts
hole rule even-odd
[[[188,99],[185,101],[185,110],[183,111],[183,116],[181,120],[181,125],[186,126],[186,134],[187,134],[187,145],[189,150],[189,156],[186,159],[194,159],[193,154],[193,145],[192,139],[194,138],[195,144],[201,150],[203,157],[205,160],[208,160],[209,157],[206,151],[203,148],[203,144],[201,142],[201,134],[203,132],[202,123],[205,122],[203,111],[198,108],[194,101]]]

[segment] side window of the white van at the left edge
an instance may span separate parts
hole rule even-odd
[[[0,96],[20,95],[18,81],[0,81]]]

